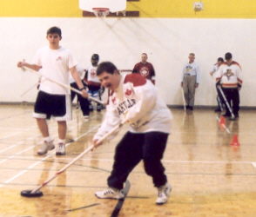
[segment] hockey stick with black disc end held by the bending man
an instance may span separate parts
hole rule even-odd
[[[115,128],[112,128],[109,133],[104,135],[100,140],[97,141],[97,144],[104,141],[109,135],[113,134],[118,128],[121,128],[125,124],[126,120],[119,123]],[[43,192],[39,191],[42,187],[46,186],[50,181],[54,180],[59,174],[62,174],[67,168],[70,168],[71,165],[73,165],[76,161],[81,159],[85,154],[87,154],[91,149],[94,148],[93,145],[91,145],[89,148],[85,149],[84,152],[82,152],[80,155],[78,155],[73,161],[71,161],[69,164],[67,164],[64,168],[59,170],[56,174],[54,174],[51,178],[49,178],[47,181],[44,181],[43,184],[36,187],[34,190],[24,190],[21,192],[21,195],[24,197],[41,197],[43,196]]]

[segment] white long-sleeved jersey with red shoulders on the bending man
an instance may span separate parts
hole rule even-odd
[[[118,89],[109,96],[104,122],[93,139],[100,139],[125,118],[131,125],[129,131],[132,133],[171,133],[170,109],[159,97],[152,82],[138,74],[122,75]],[[110,135],[107,140],[117,134],[118,132]]]

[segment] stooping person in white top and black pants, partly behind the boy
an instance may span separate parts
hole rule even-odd
[[[77,69],[77,72],[79,73],[80,78],[83,79],[84,73],[85,73],[84,67],[77,65],[76,69]],[[74,78],[71,76],[71,73],[69,76],[69,81],[71,84],[71,88],[78,89],[77,82],[75,82]],[[82,82],[84,86],[86,86],[83,80]],[[89,115],[90,115],[89,100],[87,98],[84,98],[82,95],[77,94],[75,91],[71,90],[71,102],[73,102],[76,95],[77,95],[77,102],[80,102],[80,107],[84,116],[84,120],[87,120],[89,119]]]

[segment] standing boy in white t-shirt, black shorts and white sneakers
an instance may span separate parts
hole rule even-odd
[[[51,27],[47,30],[46,36],[49,46],[37,50],[37,54],[32,64],[27,62],[18,62],[17,67],[28,67],[38,71],[42,70],[43,76],[53,81],[69,85],[69,71],[78,88],[82,91],[84,97],[88,97],[84,85],[77,73],[77,61],[69,49],[64,49],[59,45],[62,39],[61,30],[57,27]],[[45,79],[40,83],[37,101],[35,104],[33,117],[37,119],[37,126],[44,137],[44,143],[37,150],[38,155],[45,155],[48,150],[55,148],[46,119],[51,116],[57,121],[58,127],[58,146],[56,155],[65,155],[64,139],[66,135],[66,121],[71,120],[71,90],[50,82]]]

